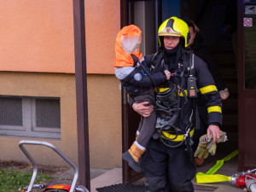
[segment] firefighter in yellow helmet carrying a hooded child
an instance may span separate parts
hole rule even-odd
[[[170,80],[159,84],[160,91],[156,93],[158,129],[143,154],[142,172],[148,192],[194,191],[191,180],[196,166],[191,145],[198,124],[195,121],[197,90],[207,101],[207,136],[212,135],[213,143],[219,138],[222,125],[221,98],[207,64],[187,49],[189,27],[183,20],[177,17],[165,20],[160,25],[158,38],[160,51],[145,56],[145,61],[153,73],[168,70],[172,75]],[[165,98],[170,96],[165,94],[170,89],[172,99]],[[174,90],[177,95],[173,95]],[[129,102],[143,117],[148,117],[153,110],[152,106],[134,102],[131,97]],[[173,106],[171,102],[176,106],[172,108],[172,115],[168,108]]]

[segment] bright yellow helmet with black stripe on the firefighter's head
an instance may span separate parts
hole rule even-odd
[[[189,26],[185,21],[178,19],[177,17],[171,17],[165,20],[158,29],[158,40],[160,46],[162,42],[160,40],[161,36],[177,36],[184,38],[184,47],[187,47],[189,44]]]

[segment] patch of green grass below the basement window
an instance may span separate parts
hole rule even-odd
[[[18,192],[19,188],[28,186],[31,180],[32,174],[28,172],[21,172],[11,168],[9,170],[0,169],[0,191],[4,192]],[[50,178],[53,178],[50,175],[38,173],[36,182],[44,183]]]

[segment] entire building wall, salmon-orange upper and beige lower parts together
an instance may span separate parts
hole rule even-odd
[[[108,169],[121,166],[121,93],[113,76],[120,1],[84,0],[84,9],[90,166]],[[78,163],[73,1],[1,1],[0,12],[0,95],[61,97],[61,139],[0,135],[0,160],[26,160],[19,141],[40,139]],[[61,165],[50,150],[31,150],[39,163]]]

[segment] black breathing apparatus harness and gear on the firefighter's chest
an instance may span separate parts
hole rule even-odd
[[[154,57],[158,55],[155,54]],[[152,59],[154,61],[155,58]],[[186,63],[186,62],[185,62]],[[188,62],[187,62],[188,63]],[[164,60],[161,60],[160,63],[161,67],[166,69]],[[176,82],[175,84],[172,84],[170,81],[168,82],[170,84],[170,88],[165,91],[158,91],[156,93],[156,112],[157,112],[157,122],[155,125],[155,128],[158,130],[154,133],[153,138],[154,139],[160,139],[162,143],[164,143],[169,148],[177,148],[181,146],[183,143],[185,143],[187,151],[189,154],[191,154],[191,148],[192,140],[190,138],[190,131],[193,125],[192,119],[195,115],[195,108],[192,108],[191,113],[189,115],[189,122],[185,126],[184,131],[179,129],[177,127],[177,119],[180,108],[180,96],[179,93],[183,94],[184,103],[188,102],[188,96],[189,98],[196,98],[196,81],[195,76],[193,75],[194,71],[192,69],[194,68],[194,54],[189,53],[189,66],[178,64],[177,67],[177,75],[176,75]],[[183,90],[182,84],[184,84],[183,75],[184,72],[189,72],[189,78],[188,78],[188,96]],[[195,103],[194,103],[195,105]],[[166,137],[165,133],[172,134],[173,137]],[[183,132],[183,134],[179,134],[180,132]],[[175,141],[177,137],[183,136],[182,141]],[[189,155],[192,156],[192,155]]]

